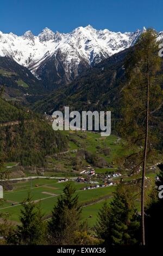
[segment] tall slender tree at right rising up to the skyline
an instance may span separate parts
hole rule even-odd
[[[129,54],[125,69],[126,82],[122,88],[122,122],[120,131],[126,136],[131,146],[142,145],[143,150],[134,152],[131,157],[131,168],[140,168],[142,164],[141,185],[141,237],[145,245],[145,173],[147,157],[158,145],[160,122],[160,108],[163,94],[160,86],[161,58],[158,55],[159,47],[156,41],[156,32],[148,29]],[[128,160],[129,160],[128,157]]]

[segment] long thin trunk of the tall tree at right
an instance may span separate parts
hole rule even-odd
[[[142,185],[141,185],[141,233],[142,245],[145,245],[145,174],[146,174],[146,160],[148,147],[148,116],[149,116],[149,60],[147,63],[147,101],[146,101],[146,136],[145,148],[143,154],[143,168],[142,168]]]

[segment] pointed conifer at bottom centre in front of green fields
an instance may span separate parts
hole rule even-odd
[[[48,223],[51,243],[55,245],[73,245],[75,232],[80,227],[81,206],[78,195],[74,195],[76,189],[66,184],[64,194],[58,198],[57,205],[52,211],[52,220]]]

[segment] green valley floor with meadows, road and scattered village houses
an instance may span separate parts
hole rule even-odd
[[[44,118],[49,124],[53,121],[51,116],[45,115]],[[117,156],[127,153],[123,139],[114,135],[102,138],[99,133],[89,131],[60,132],[67,137],[68,148],[47,156],[46,167],[22,167],[16,162],[4,164],[6,178],[1,181],[4,203],[0,212],[9,212],[13,223],[19,221],[20,204],[28,192],[36,204],[40,202],[45,219],[48,219],[58,196],[71,182],[84,207],[83,219],[86,218],[92,227],[105,200],[111,202],[117,184],[139,184],[141,167],[130,175],[128,169],[121,168],[117,162]],[[158,160],[154,166],[148,164],[147,186],[156,179],[157,163]],[[140,211],[140,196],[136,198],[136,205]]]

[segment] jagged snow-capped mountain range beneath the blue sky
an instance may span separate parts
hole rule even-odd
[[[116,33],[89,25],[66,34],[48,28],[37,36],[30,31],[22,36],[0,32],[0,56],[13,58],[45,81],[47,74],[55,74],[53,83],[63,82],[63,77],[70,82],[84,68],[133,45],[143,31]]]

